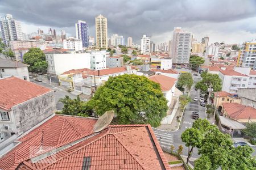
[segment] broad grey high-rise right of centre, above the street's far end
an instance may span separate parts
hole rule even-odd
[[[182,30],[180,27],[174,28],[174,35],[171,43],[171,57],[177,64],[189,63],[191,54],[192,33]]]

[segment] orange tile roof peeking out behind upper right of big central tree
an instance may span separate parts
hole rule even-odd
[[[169,91],[175,85],[177,79],[165,75],[153,75],[149,77],[153,82],[159,83],[161,90]]]

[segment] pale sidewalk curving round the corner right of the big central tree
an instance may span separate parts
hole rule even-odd
[[[175,113],[174,119],[172,120],[171,124],[162,124],[162,125],[158,126],[156,129],[165,130],[165,131],[179,130],[179,125],[180,125],[182,115],[183,115],[182,110],[177,109],[177,112]],[[179,116],[179,120],[180,120],[179,122],[176,119],[177,116]]]

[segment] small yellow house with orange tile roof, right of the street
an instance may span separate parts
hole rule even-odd
[[[218,91],[214,92],[214,102],[213,104],[218,109],[218,111],[222,110],[223,103],[241,103],[240,97],[236,95],[229,94],[226,91]]]

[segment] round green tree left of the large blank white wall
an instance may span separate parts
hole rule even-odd
[[[24,54],[24,63],[28,65],[28,71],[32,72],[44,72],[47,70],[48,63],[46,62],[46,55],[40,48],[30,48],[27,53]]]

